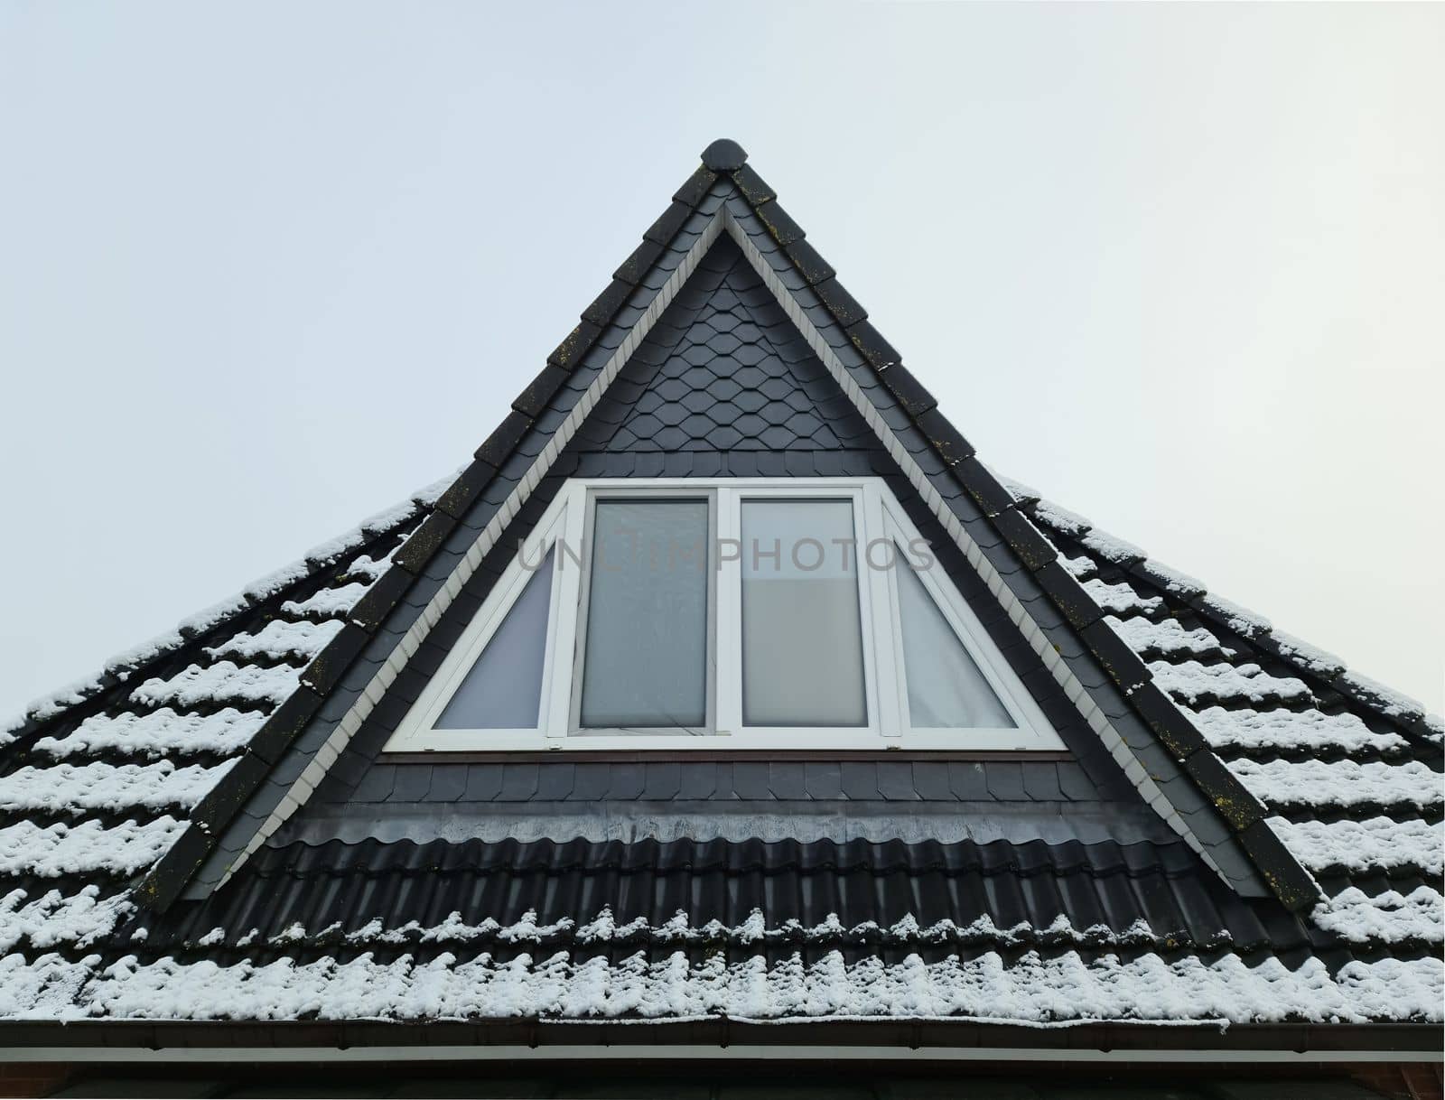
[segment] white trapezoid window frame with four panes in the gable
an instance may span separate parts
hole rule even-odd
[[[577,713],[581,697],[585,630],[585,570],[591,551],[594,502],[607,497],[707,497],[712,536],[708,546],[708,729],[676,730],[581,730]],[[718,561],[718,546],[740,545],[741,502],[751,499],[853,502],[858,568],[858,610],[863,627],[863,675],[867,726],[858,727],[746,727],[743,726],[743,630],[740,558]],[[728,543],[728,539],[737,542]],[[903,665],[903,636],[899,619],[897,578],[892,568],[867,568],[868,548],[890,541],[897,567],[907,568],[907,548],[920,542],[892,490],[879,477],[827,478],[574,478],[558,491],[542,520],[522,542],[514,558],[493,587],[478,613],[442,661],[436,675],[418,697],[386,752],[525,752],[553,749],[686,752],[720,749],[928,749],[1059,750],[1064,742],[1033,701],[1027,688],[1009,668],[988,637],[978,616],[935,561],[916,570],[929,596],[942,610],[954,633],[978,665],[988,685],[1013,717],[1016,729],[912,729],[907,681]],[[538,729],[533,730],[436,730],[435,721],[451,701],[461,679],[471,671],[507,611],[535,575],[535,567],[553,552],[552,594],[548,616],[546,652]],[[741,557],[741,555],[740,555]]]

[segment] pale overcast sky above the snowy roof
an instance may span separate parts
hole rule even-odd
[[[0,711],[470,457],[718,136],[994,468],[1442,708],[1445,7],[0,3]]]

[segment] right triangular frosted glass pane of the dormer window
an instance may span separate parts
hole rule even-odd
[[[899,616],[907,708],[915,730],[1014,729],[1003,702],[958,640],[923,581],[899,552]]]

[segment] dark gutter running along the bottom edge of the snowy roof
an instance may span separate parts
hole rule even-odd
[[[977,1020],[3,1022],[3,1062],[1442,1062],[1438,1023]]]

